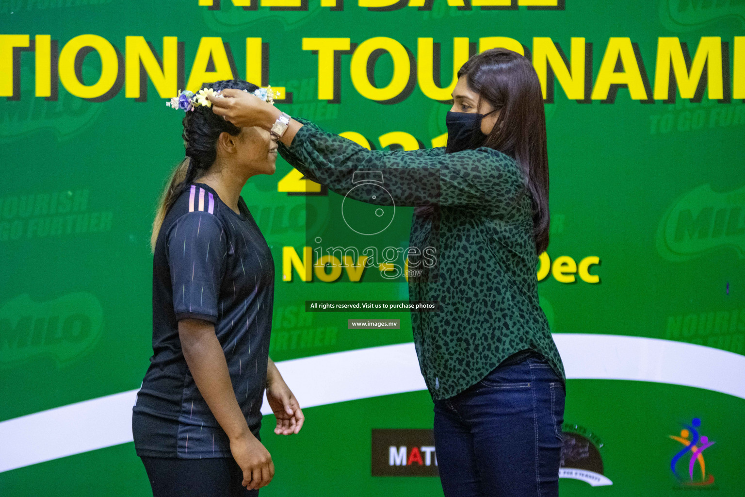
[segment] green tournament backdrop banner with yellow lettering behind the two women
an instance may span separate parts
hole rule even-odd
[[[0,0],[0,494],[149,495],[126,436],[60,457],[32,433],[51,418],[17,418],[139,387],[150,224],[184,154],[167,98],[241,77],[361,145],[440,146],[454,71],[501,46],[530,57],[545,96],[551,245],[536,274],[570,377],[562,494],[743,495],[744,28],[742,0]],[[282,159],[243,191],[276,264],[274,361],[412,340],[407,312],[306,307],[408,300],[387,266],[314,267],[309,224],[332,219],[334,195]],[[401,211],[391,247],[408,244]],[[625,373],[603,373],[606,358]],[[277,473],[262,495],[441,495],[416,365],[402,382],[307,399],[297,436],[266,417]],[[671,467],[694,430],[714,443]],[[34,456],[14,462],[24,444]]]

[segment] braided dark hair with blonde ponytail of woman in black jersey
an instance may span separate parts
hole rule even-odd
[[[222,80],[209,83],[203,88],[212,88],[215,91],[235,88],[254,92],[259,86],[244,80]],[[218,137],[220,133],[230,133],[232,136],[241,134],[241,128],[235,127],[230,121],[226,121],[212,112],[211,107],[195,107],[194,111],[188,111],[183,120],[183,133],[181,137],[186,147],[186,157],[171,172],[171,177],[166,183],[165,190],[160,196],[155,219],[153,220],[153,234],[150,236],[150,249],[155,252],[155,243],[158,232],[163,224],[168,209],[191,184],[194,179],[203,174],[218,156]]]

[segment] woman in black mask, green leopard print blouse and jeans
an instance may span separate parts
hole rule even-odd
[[[409,257],[422,269],[410,299],[440,307],[412,313],[413,335],[446,497],[557,496],[565,375],[537,290],[548,156],[530,61],[495,48],[466,62],[448,145],[428,150],[370,151],[301,118],[285,130],[280,110],[241,93],[211,98],[215,113],[273,130],[305,177],[356,200],[416,206],[410,249],[433,247],[437,264]],[[390,198],[372,200],[373,186],[352,183],[355,171],[384,173]]]

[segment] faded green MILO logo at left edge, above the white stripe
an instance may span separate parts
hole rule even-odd
[[[80,357],[101,335],[103,311],[89,293],[36,303],[28,294],[0,307],[0,368],[42,355],[57,365]]]

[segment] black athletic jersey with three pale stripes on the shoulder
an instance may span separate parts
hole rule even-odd
[[[194,183],[165,216],[153,257],[153,357],[133,408],[137,455],[230,457],[189,373],[178,321],[215,323],[238,405],[257,437],[267,376],[274,262],[243,198],[238,215]]]

